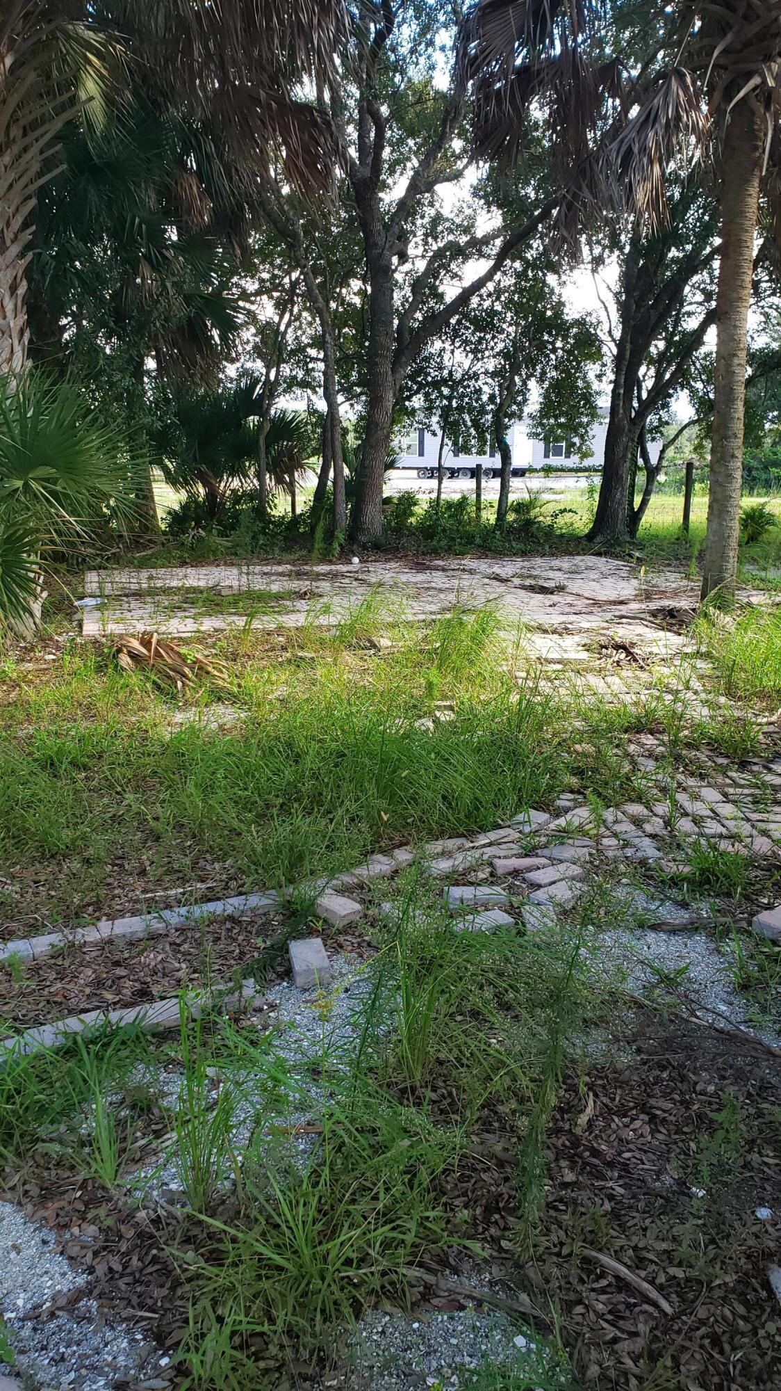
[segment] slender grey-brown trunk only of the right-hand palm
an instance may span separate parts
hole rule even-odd
[[[746,332],[752,296],[763,132],[750,95],[734,107],[721,153],[721,259],[716,294],[716,364],[710,487],[702,600],[734,598],[743,463]]]

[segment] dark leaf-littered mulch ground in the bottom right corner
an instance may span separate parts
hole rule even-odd
[[[635,1047],[624,1070],[591,1068],[564,1088],[527,1274],[559,1303],[588,1385],[778,1388],[781,1308],[767,1267],[781,1239],[781,1064],[653,1017]],[[674,1316],[584,1248],[642,1276]]]

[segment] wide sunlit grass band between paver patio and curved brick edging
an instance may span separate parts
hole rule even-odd
[[[732,666],[756,670],[756,644],[768,665],[778,627],[757,618],[743,634],[742,622]],[[502,632],[491,606],[421,625],[371,593],[332,630],[313,619],[282,637],[232,632],[217,652],[228,690],[202,686],[193,714],[229,701],[239,721],[220,734],[172,727],[174,693],[97,647],[67,647],[33,680],[6,661],[0,858],[46,865],[46,921],[94,915],[113,876],[138,878],[138,865],[150,889],[203,879],[203,857],[247,887],[286,885],[382,846],[493,828],[578,785],[596,804],[642,800],[625,758],[635,732],[661,734],[673,761],[688,743],[748,757],[760,739],[739,701],[692,723],[684,662],[616,702],[567,679],[541,689],[523,630]],[[438,702],[450,718],[431,729]],[[1,887],[0,907],[19,915]]]

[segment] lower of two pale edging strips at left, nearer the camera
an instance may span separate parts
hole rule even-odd
[[[254,981],[242,981],[240,990],[225,988],[225,990],[208,990],[207,993],[190,992],[174,999],[153,1000],[150,1004],[135,1004],[125,1010],[86,1010],[83,1014],[72,1014],[67,1020],[36,1024],[35,1028],[25,1029],[15,1038],[0,1039],[0,1061],[24,1057],[38,1049],[56,1049],[75,1034],[90,1034],[101,1028],[136,1025],[145,1034],[178,1028],[182,1004],[190,1020],[199,1020],[217,1010],[220,1014],[260,1010],[264,1000],[265,996],[258,992]]]

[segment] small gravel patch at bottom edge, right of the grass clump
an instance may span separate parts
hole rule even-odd
[[[484,1363],[542,1370],[542,1351],[500,1312],[364,1313],[349,1344],[353,1372],[346,1385],[371,1391],[459,1388]],[[499,1384],[499,1383],[498,1383]]]

